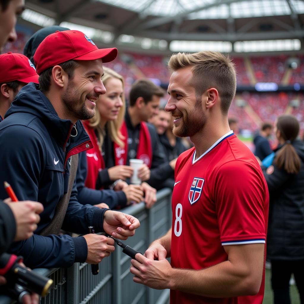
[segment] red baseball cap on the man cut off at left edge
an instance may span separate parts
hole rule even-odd
[[[0,55],[0,67],[0,83],[16,80],[39,83],[35,66],[22,54],[8,52]]]

